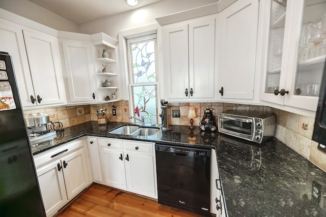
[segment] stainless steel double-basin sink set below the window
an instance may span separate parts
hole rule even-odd
[[[156,134],[158,131],[159,128],[156,127],[141,127],[139,125],[122,125],[108,131],[108,133],[131,135],[131,136],[151,136]]]

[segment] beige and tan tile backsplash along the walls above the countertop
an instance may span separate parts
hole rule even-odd
[[[304,158],[314,163],[326,171],[326,153],[317,148],[318,143],[312,140],[314,118],[286,112],[283,110],[267,107],[253,106],[247,104],[232,103],[169,103],[169,123],[170,125],[190,126],[187,118],[188,108],[194,107],[197,117],[194,119],[194,126],[199,123],[204,115],[204,109],[211,108],[217,116],[220,112],[227,110],[255,111],[263,113],[274,113],[277,119],[275,137],[292,148]],[[113,106],[116,107],[117,115],[112,114]],[[78,125],[90,120],[97,120],[96,110],[103,109],[108,121],[129,122],[129,102],[117,101],[104,104],[82,105],[82,106],[62,106],[57,108],[44,108],[39,110],[24,111],[30,113],[48,113],[51,121],[60,121],[63,128]],[[172,117],[172,110],[180,110],[180,117]]]

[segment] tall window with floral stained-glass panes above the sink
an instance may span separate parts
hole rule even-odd
[[[127,40],[131,114],[157,123],[156,34]]]

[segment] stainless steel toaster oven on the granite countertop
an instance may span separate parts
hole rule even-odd
[[[218,128],[220,133],[261,143],[274,135],[276,118],[274,114],[227,111],[219,114]]]

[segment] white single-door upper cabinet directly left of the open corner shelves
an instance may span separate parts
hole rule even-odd
[[[81,41],[63,41],[70,102],[95,100],[95,81],[91,44]]]

